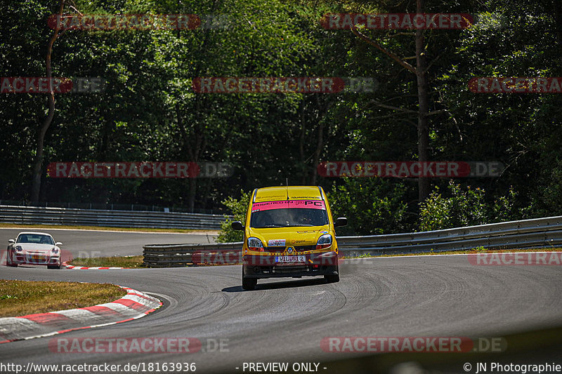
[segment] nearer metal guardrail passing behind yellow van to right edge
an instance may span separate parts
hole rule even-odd
[[[549,248],[562,245],[562,216],[457,227],[405,234],[340,236],[346,256],[464,251],[485,248]],[[242,242],[218,244],[154,244],[143,246],[151,267],[240,263]]]

